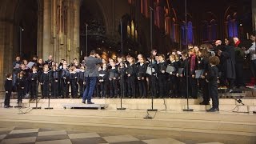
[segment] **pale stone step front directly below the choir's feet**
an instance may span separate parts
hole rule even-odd
[[[239,103],[238,100],[241,99],[242,103]],[[3,107],[4,99],[0,99],[0,104]],[[11,106],[18,106],[16,99],[10,100]],[[120,107],[119,98],[93,98],[92,102],[95,105],[85,105],[82,103],[82,99],[50,99],[50,107],[54,109],[64,109],[66,108],[78,108],[78,107],[90,107],[94,106],[96,109],[99,107],[105,107],[108,110],[116,110]],[[202,102],[201,98],[198,99],[189,99],[190,108],[195,111],[205,111],[210,109],[210,105],[204,106],[199,105]],[[219,98],[219,108],[221,111],[226,112],[244,112],[252,113],[256,110],[256,98]],[[210,102],[211,104],[211,102]],[[35,101],[30,101],[29,99],[23,99],[22,107],[35,107]],[[39,99],[38,107],[42,109],[48,107],[48,99]],[[122,107],[125,107],[127,110],[148,110],[151,108],[151,99],[150,98],[125,98],[122,99]],[[182,98],[156,98],[154,99],[154,109],[158,110],[171,110],[171,111],[182,111],[186,109],[186,99]]]

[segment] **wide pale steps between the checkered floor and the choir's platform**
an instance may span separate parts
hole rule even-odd
[[[145,119],[151,117],[152,119]],[[82,130],[174,138],[186,143],[254,144],[256,114],[174,110],[32,110],[0,108],[0,127]],[[178,144],[183,142],[179,142]]]

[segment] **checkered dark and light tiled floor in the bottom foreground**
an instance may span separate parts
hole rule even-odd
[[[22,127],[0,128],[0,142],[1,144],[184,143],[173,138],[153,138],[150,136],[100,134],[88,133],[83,131],[49,130],[41,128],[28,129]]]

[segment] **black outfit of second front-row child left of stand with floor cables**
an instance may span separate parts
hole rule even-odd
[[[130,98],[135,98],[136,90],[135,90],[135,77],[136,77],[136,65],[128,65],[127,66],[127,85],[128,85],[128,95]],[[130,74],[130,77],[128,76]]]

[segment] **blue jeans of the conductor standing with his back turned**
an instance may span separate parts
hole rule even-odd
[[[86,90],[82,95],[82,101],[91,102],[91,97],[94,94],[94,88],[97,82],[97,77],[86,77]]]

